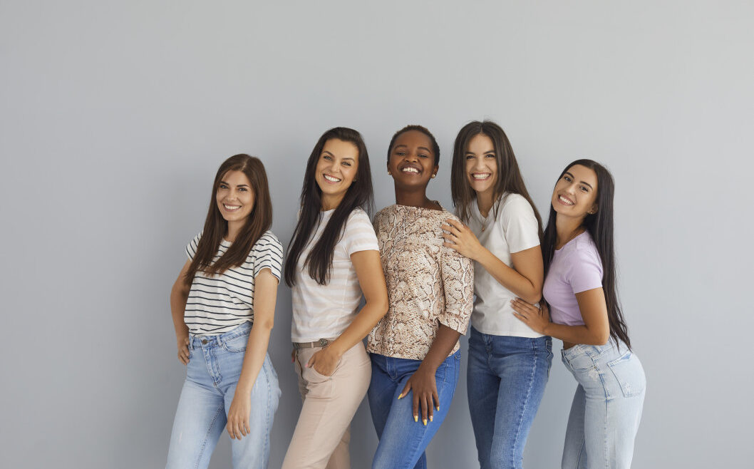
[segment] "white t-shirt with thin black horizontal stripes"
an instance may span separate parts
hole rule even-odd
[[[186,246],[189,259],[194,259],[201,233]],[[220,241],[213,262],[231,247]],[[283,247],[272,231],[265,231],[256,241],[246,261],[222,274],[207,275],[197,271],[191,284],[183,320],[192,334],[215,336],[226,333],[246,321],[254,322],[254,279],[268,268],[280,280]]]

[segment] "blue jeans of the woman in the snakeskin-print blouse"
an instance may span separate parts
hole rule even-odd
[[[421,409],[419,421],[414,421],[411,392],[398,400],[400,391],[403,391],[406,382],[421,365],[421,360],[385,357],[380,354],[371,354],[371,359],[372,381],[366,396],[369,398],[372,422],[379,438],[372,469],[426,469],[425,449],[448,415],[461,369],[461,351],[447,357],[437,367],[434,379],[437,395],[440,397],[440,410],[434,410],[433,421],[428,421],[427,425],[421,421]]]

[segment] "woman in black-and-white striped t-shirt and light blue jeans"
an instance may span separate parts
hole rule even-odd
[[[220,165],[204,231],[170,293],[186,380],[167,467],[207,467],[227,423],[233,467],[267,467],[280,388],[267,354],[283,250],[262,161]]]

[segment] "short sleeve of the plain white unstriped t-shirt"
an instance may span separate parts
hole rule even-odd
[[[539,224],[529,201],[520,194],[507,195],[499,222],[510,253],[539,246]]]

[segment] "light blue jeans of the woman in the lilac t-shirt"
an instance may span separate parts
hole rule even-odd
[[[646,379],[625,344],[574,345],[562,360],[578,382],[566,430],[562,467],[631,466]]]

